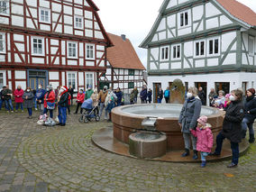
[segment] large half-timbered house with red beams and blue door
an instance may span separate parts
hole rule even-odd
[[[91,0],[0,0],[0,88],[97,87],[112,46]]]

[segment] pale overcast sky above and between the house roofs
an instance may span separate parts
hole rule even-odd
[[[256,0],[238,0],[256,13]],[[138,46],[151,31],[163,0],[94,0],[106,32],[125,34],[146,66],[147,51]]]

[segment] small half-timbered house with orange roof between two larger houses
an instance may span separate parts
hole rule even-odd
[[[112,47],[107,48],[107,69],[101,77],[100,87],[108,86],[114,89],[120,87],[123,93],[129,94],[134,87],[141,90],[145,85],[143,72],[145,71],[133,44],[125,35],[107,33]]]

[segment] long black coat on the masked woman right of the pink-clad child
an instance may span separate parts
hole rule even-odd
[[[227,108],[221,133],[231,142],[241,142],[242,118],[244,108],[242,101],[233,101]]]

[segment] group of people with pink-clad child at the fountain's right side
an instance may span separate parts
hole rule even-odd
[[[214,89],[208,96],[210,105],[220,110],[224,110],[223,129],[216,136],[215,151],[213,148],[213,133],[211,125],[207,123],[206,116],[200,116],[201,107],[205,101],[199,97],[200,89],[190,87],[187,90],[187,99],[182,107],[179,115],[178,123],[183,133],[185,151],[182,157],[187,157],[190,150],[190,138],[194,151],[193,159],[197,160],[197,151],[201,153],[201,167],[206,167],[206,156],[221,155],[224,139],[228,139],[231,143],[232,162],[227,166],[234,168],[238,165],[239,160],[239,143],[245,138],[246,131],[249,129],[249,142],[254,142],[253,123],[256,118],[256,96],[255,89],[250,88],[243,96],[241,89],[235,89],[224,95],[224,91],[220,90],[218,95]]]

